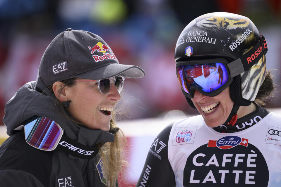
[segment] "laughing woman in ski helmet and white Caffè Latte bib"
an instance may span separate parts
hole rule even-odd
[[[184,28],[176,73],[201,115],[157,136],[137,186],[280,186],[281,116],[259,106],[274,88],[267,51],[241,15],[208,13]]]

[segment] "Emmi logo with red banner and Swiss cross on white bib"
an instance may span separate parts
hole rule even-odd
[[[238,136],[225,136],[219,140],[209,140],[208,147],[218,147],[220,149],[230,149],[237,145],[248,146],[248,139]]]

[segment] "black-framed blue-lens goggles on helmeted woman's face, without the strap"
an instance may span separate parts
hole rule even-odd
[[[187,97],[191,98],[195,90],[206,96],[217,95],[233,80],[227,63],[227,60],[223,58],[177,63],[177,77],[181,89]]]

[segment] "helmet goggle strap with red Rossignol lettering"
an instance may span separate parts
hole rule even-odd
[[[261,35],[260,40],[256,43],[256,45],[247,53],[245,53],[240,58],[234,60],[231,63],[227,64],[229,68],[230,77],[235,77],[247,70],[249,70],[253,65],[258,63],[261,56],[267,53],[267,42],[265,37]]]

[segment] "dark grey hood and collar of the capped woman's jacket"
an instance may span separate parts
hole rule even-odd
[[[39,84],[37,84],[39,85]],[[44,89],[41,85],[40,89]],[[114,141],[116,131],[106,132],[100,129],[88,129],[78,125],[72,120],[62,117],[59,107],[55,105],[52,93],[45,88],[44,94],[40,89],[35,90],[35,81],[23,85],[17,93],[5,105],[5,115],[3,122],[7,128],[7,134],[16,133],[15,129],[23,121],[38,115],[54,120],[64,129],[66,136],[85,146],[95,146],[100,142]],[[118,131],[118,129],[117,129]]]

